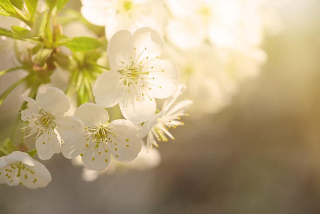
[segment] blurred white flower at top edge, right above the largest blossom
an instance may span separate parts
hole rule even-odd
[[[110,39],[117,31],[152,27],[164,32],[168,12],[163,0],[81,0],[81,13],[90,23],[105,26]]]

